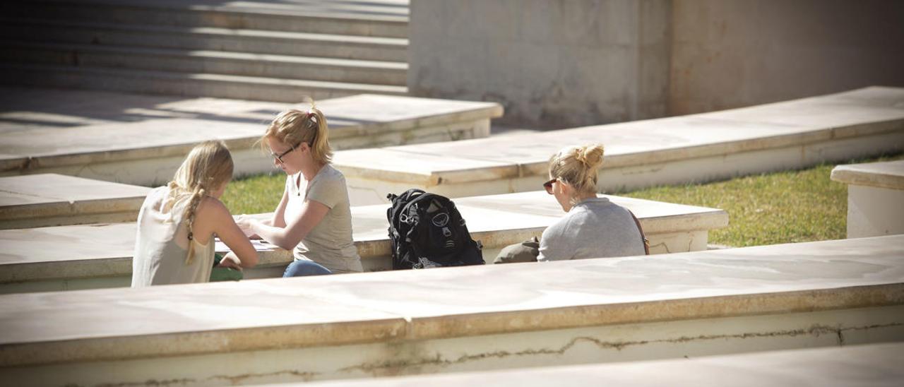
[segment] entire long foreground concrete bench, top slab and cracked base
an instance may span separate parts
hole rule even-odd
[[[904,235],[0,297],[14,385],[301,382],[904,340]]]

